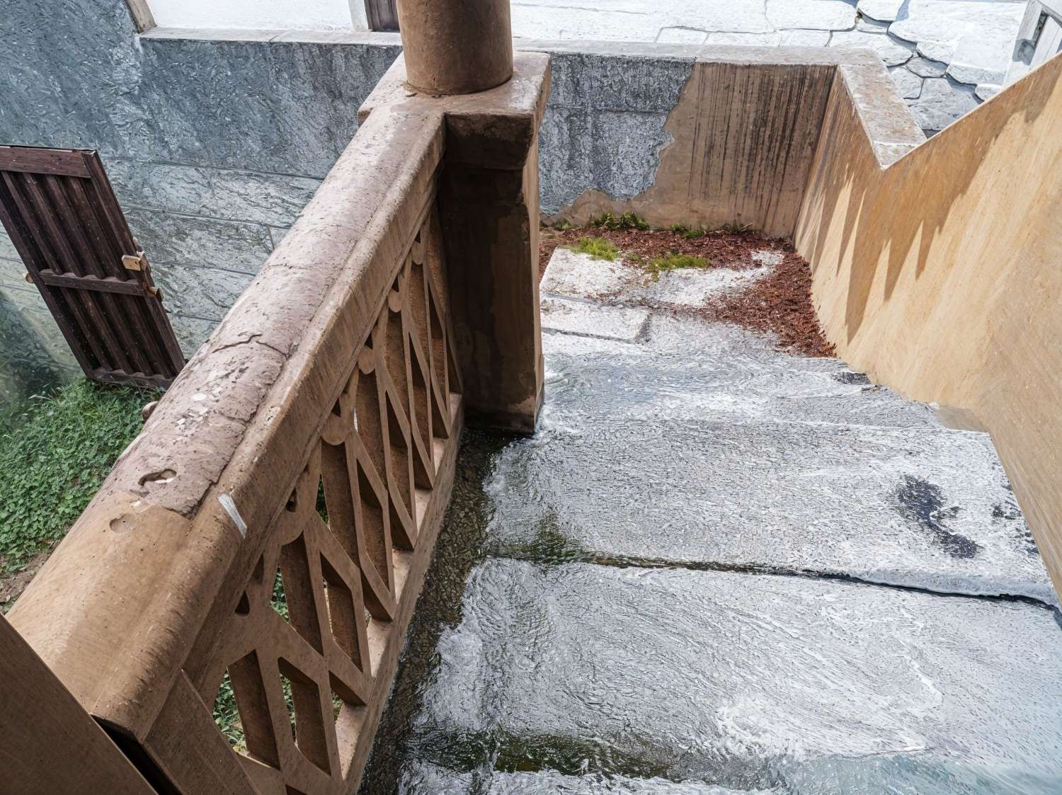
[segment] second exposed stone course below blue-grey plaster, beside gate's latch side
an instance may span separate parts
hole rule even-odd
[[[140,209],[130,210],[125,218],[153,263],[182,262],[257,273],[273,250],[269,228],[259,224]]]

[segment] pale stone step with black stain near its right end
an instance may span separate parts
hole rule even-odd
[[[978,433],[617,419],[506,448],[495,554],[556,563],[811,572],[1057,604]]]

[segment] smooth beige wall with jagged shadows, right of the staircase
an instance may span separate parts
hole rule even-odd
[[[838,69],[794,236],[820,319],[991,432],[1062,591],[1062,57],[913,150],[864,76]]]

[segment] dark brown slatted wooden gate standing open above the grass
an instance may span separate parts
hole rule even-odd
[[[96,152],[0,146],[0,221],[86,376],[173,381],[181,346]]]

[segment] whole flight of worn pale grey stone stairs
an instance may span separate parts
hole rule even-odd
[[[675,298],[732,275],[554,256],[541,429],[465,446],[362,792],[1062,792],[990,439]]]

